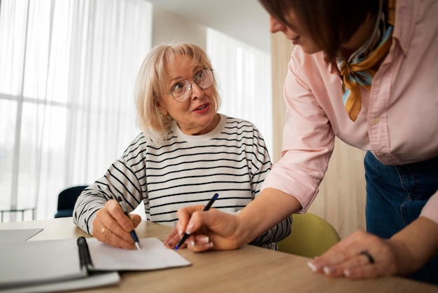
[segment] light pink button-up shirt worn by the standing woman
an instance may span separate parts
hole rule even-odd
[[[437,11],[435,0],[397,0],[393,46],[372,89],[362,89],[356,121],[344,108],[336,64],[327,63],[322,52],[293,50],[283,92],[282,157],[262,189],[295,196],[306,211],[318,193],[335,135],[387,165],[438,156]],[[438,191],[422,214],[438,223]]]

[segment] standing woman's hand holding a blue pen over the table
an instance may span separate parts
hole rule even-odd
[[[195,252],[205,250],[234,250],[239,242],[239,217],[220,212],[215,208],[203,211],[203,205],[183,207],[178,210],[176,229],[182,237],[189,233],[188,249]]]

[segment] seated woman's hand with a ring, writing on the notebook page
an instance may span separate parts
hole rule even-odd
[[[132,250],[135,246],[130,231],[139,226],[141,217],[139,214],[129,214],[129,217],[130,221],[117,200],[108,200],[96,213],[92,235],[113,247]]]

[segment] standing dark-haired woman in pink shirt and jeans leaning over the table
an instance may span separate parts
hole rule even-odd
[[[233,249],[286,214],[306,212],[337,136],[367,150],[368,233],[353,233],[309,266],[330,276],[413,273],[438,283],[438,1],[260,2],[271,32],[296,45],[281,160],[235,217],[190,207],[178,226],[191,216],[189,231],[208,226],[216,249]]]

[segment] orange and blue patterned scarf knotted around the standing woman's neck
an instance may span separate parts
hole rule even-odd
[[[360,87],[371,88],[372,80],[376,71],[372,67],[379,62],[388,52],[393,35],[395,20],[395,0],[388,1],[388,23],[382,12],[382,2],[372,37],[357,50],[351,57],[337,57],[337,67],[341,71],[343,79],[342,100],[352,121],[358,118],[360,112]]]

